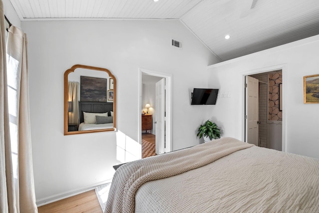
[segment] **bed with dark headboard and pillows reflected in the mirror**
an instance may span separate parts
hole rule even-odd
[[[96,116],[104,116],[109,118],[107,120],[100,118],[100,122],[97,122]],[[79,101],[79,120],[79,131],[114,128],[113,102]],[[91,121],[88,122],[88,120]]]

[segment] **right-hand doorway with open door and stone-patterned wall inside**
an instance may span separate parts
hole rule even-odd
[[[284,67],[285,68],[285,67]],[[255,91],[258,96],[258,107],[257,107],[257,118],[247,119],[247,114],[251,114],[256,111],[255,105],[248,103],[247,92],[249,88],[246,88],[245,81],[245,141],[253,143],[260,147],[266,147],[279,151],[286,151],[285,141],[285,93],[283,91],[283,79],[284,74],[283,68],[269,70],[264,72],[256,72],[256,74],[245,75],[252,78],[257,82],[257,90]],[[285,107],[284,107],[285,106]],[[249,120],[257,126],[257,137],[253,137],[249,131],[250,126]],[[255,131],[256,133],[256,131]],[[254,138],[254,139],[253,139]],[[249,142],[252,140],[252,142]]]

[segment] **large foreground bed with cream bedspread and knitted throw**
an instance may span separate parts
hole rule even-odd
[[[105,212],[319,212],[319,159],[221,138],[119,167]]]

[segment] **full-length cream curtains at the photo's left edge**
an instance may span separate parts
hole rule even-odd
[[[2,0],[0,7],[0,212],[37,213],[31,152],[26,35],[17,27],[9,28],[5,65]]]

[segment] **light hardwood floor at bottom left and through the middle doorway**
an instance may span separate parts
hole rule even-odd
[[[143,133],[142,139],[155,144],[155,135]],[[38,213],[102,213],[95,190],[38,208]]]

